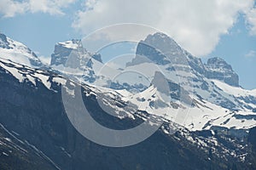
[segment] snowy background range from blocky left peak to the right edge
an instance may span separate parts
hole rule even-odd
[[[219,58],[208,59],[207,64],[204,64],[163,33],[148,35],[139,42],[135,58],[121,71],[103,65],[100,62],[102,59],[96,60],[94,56],[100,54],[87,52],[80,40],[59,42],[51,56],[51,65],[81,82],[126,90],[127,100],[151,114],[157,112],[148,107],[153,105],[155,99],[148,99],[151,101],[148,102],[139,95],[148,95],[150,82],[158,79],[155,72],[162,71],[172,100],[170,104],[170,99],[167,99],[165,105],[179,105],[178,108],[182,110],[178,116],[167,117],[192,131],[217,127],[246,131],[256,123],[253,112],[256,94],[239,87],[239,78],[231,65]],[[127,71],[142,74],[128,74]],[[143,80],[143,77],[148,80]],[[137,98],[131,98],[133,94]]]

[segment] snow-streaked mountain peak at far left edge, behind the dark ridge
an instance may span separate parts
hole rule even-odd
[[[6,37],[2,33],[0,33],[0,57],[31,67],[40,67],[43,65],[40,59],[38,59],[38,56],[30,48],[27,48],[21,42],[16,42]]]

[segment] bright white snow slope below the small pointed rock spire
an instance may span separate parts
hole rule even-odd
[[[172,92],[170,91],[170,93]],[[136,104],[140,110],[162,116],[191,131],[214,129],[214,127],[249,129],[256,126],[256,113],[247,109],[232,111],[206,99],[201,99],[195,94],[189,94],[191,99],[189,105],[184,99],[162,99],[159,94],[160,92],[154,86],[150,86],[140,94],[132,95],[126,92],[124,95],[131,96],[127,100]],[[157,107],[155,105],[157,103],[160,103],[162,107]]]

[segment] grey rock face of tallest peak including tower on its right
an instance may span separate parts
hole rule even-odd
[[[187,69],[187,71],[194,70],[195,74],[200,74],[203,77],[217,79],[231,86],[239,86],[238,75],[224,59],[208,59],[207,64],[204,65],[200,58],[189,54],[171,37],[160,32],[148,35],[144,41],[139,42],[136,54],[137,56],[127,66],[154,62],[156,65],[170,65],[174,71],[180,69],[181,65],[189,65],[191,69]],[[175,64],[179,66],[174,68]]]

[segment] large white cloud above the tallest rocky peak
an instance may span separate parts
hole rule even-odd
[[[253,0],[89,0],[84,6],[73,23],[84,34],[119,23],[145,24],[166,32],[195,55],[211,53],[238,14],[247,12],[251,25],[255,20]]]

